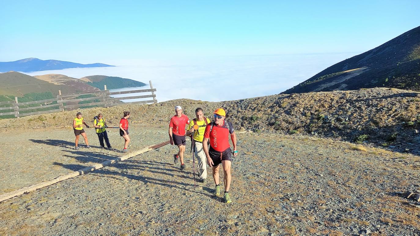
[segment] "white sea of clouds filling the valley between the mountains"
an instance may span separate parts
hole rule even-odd
[[[127,60],[117,62],[116,67],[71,68],[26,74],[33,76],[54,73],[73,78],[108,75],[141,81],[147,87],[149,80],[152,80],[153,87],[157,89],[158,101],[228,101],[281,93],[325,68],[357,54],[359,53]],[[139,89],[144,88],[146,87]],[[113,91],[121,90],[127,89]]]

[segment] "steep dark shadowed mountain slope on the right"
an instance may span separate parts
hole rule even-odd
[[[391,87],[420,91],[420,26],[339,62],[283,93]]]

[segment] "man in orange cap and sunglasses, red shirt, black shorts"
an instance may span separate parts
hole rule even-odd
[[[207,163],[213,167],[213,179],[216,184],[215,195],[220,195],[219,185],[219,169],[220,163],[223,165],[225,178],[225,193],[223,198],[226,203],[231,203],[229,196],[229,187],[231,185],[231,146],[229,145],[229,134],[231,135],[232,144],[234,145],[234,156],[238,155],[236,150],[236,134],[231,122],[225,121],[226,112],[219,108],[214,112],[214,122],[207,124],[204,131],[203,150],[207,157]],[[207,142],[210,140],[210,149]]]

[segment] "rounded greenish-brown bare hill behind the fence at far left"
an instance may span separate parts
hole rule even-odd
[[[26,93],[51,92],[58,94],[58,90],[61,90],[63,94],[99,91],[99,89],[89,86],[81,80],[71,80],[67,84],[56,84],[14,71],[0,73],[0,84],[0,95],[19,97]]]

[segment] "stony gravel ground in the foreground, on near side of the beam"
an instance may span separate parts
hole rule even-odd
[[[157,130],[162,130],[157,137],[165,140],[166,127]],[[8,136],[13,135],[22,134]],[[394,194],[419,189],[419,157],[304,135],[244,133],[238,140],[240,154],[232,163],[231,204],[213,195],[211,175],[205,184],[194,188],[191,156],[186,155],[188,168],[181,171],[171,159],[176,148],[166,145],[1,202],[0,234],[420,233],[420,208]],[[147,139],[142,142],[141,147]],[[41,144],[36,146],[60,152],[68,149]],[[72,154],[93,159],[91,151],[95,149]],[[63,169],[74,170],[74,163],[61,162],[61,169],[53,171],[56,175],[66,172]],[[48,165],[41,167],[49,169]]]

